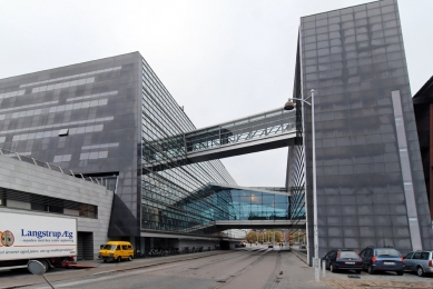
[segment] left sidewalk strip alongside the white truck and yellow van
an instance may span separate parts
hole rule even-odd
[[[168,257],[139,258],[139,259],[134,259],[130,262],[122,261],[120,263],[118,262],[104,263],[102,260],[86,260],[86,261],[79,261],[78,263],[91,265],[96,267],[91,269],[61,269],[58,272],[47,273],[46,277],[49,281],[52,282],[69,280],[69,279],[80,279],[87,276],[99,276],[99,275],[112,273],[117,271],[127,271],[127,270],[134,270],[138,268],[152,267],[157,265],[173,263],[173,262],[179,262],[185,260],[194,260],[194,259],[199,259],[208,256],[223,255],[227,252],[230,251],[214,250],[207,252],[186,253],[186,255],[177,255],[177,256],[168,256]],[[38,283],[46,283],[41,276],[22,275],[20,276],[20,278],[2,279],[0,282],[0,289],[19,288],[24,286],[38,285]]]

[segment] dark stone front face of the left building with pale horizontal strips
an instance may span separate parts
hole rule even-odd
[[[141,142],[141,116],[138,114],[141,112],[141,59],[139,52],[132,52],[0,80],[0,94],[24,90],[22,96],[0,100],[0,114],[4,114],[0,120],[0,138],[6,137],[1,148],[30,153],[35,159],[51,163],[57,156],[56,165],[77,173],[118,173],[109,236],[140,233],[141,183],[137,178],[140,150],[137,148]],[[116,69],[92,73],[110,68]],[[77,78],[68,78],[70,76]],[[94,82],[86,84],[70,86],[69,82],[94,77]],[[50,79],[55,81],[35,83]],[[69,84],[32,93],[33,88],[65,82]],[[20,88],[27,83],[35,84]],[[111,93],[104,96],[106,92]],[[80,97],[85,98],[77,99]],[[88,108],[73,107],[87,101],[94,102]],[[57,107],[57,111],[52,107]],[[98,127],[100,124],[104,129]],[[59,137],[57,131],[66,128],[69,136]],[[51,136],[28,134],[40,131]],[[22,134],[26,134],[23,140],[12,141],[14,136]],[[111,144],[98,146],[101,143]],[[59,161],[59,156],[69,157]]]

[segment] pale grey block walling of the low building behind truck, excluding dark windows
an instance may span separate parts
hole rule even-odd
[[[106,190],[102,186],[0,156],[0,188],[97,206],[98,219],[76,217],[78,220],[78,231],[94,233],[95,258],[98,255],[99,245],[108,240],[108,222],[110,220],[114,192]],[[12,206],[13,203],[11,201]],[[22,207],[10,208],[9,206],[7,208],[0,207],[1,211],[69,217],[62,213],[39,212],[26,210]]]

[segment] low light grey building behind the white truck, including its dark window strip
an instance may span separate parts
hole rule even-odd
[[[77,219],[77,258],[95,259],[108,241],[112,191],[107,183],[0,149],[0,215]],[[109,186],[108,186],[109,187]]]

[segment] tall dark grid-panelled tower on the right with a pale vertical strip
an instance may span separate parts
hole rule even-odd
[[[319,256],[372,245],[433,248],[396,0],[301,19],[294,97],[312,89]],[[289,149],[288,187],[305,185],[313,257],[312,118],[297,102],[304,146]]]

